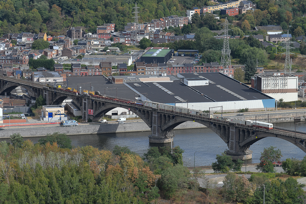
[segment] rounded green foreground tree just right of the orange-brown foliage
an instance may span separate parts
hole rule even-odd
[[[171,198],[179,189],[186,189],[188,187],[188,180],[190,172],[187,167],[183,165],[174,165],[162,171],[161,174],[161,188],[165,195]]]

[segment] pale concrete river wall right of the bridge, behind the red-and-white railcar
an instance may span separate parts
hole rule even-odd
[[[265,114],[265,115],[264,115]],[[269,117],[268,117],[269,114]],[[270,123],[305,121],[306,112],[291,112],[291,113],[263,113],[256,117],[257,120]],[[255,120],[255,115],[246,115],[245,120]]]

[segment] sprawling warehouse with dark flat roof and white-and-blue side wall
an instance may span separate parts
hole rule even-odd
[[[234,112],[244,108],[273,110],[275,107],[274,98],[220,72],[181,73],[177,77],[173,75],[115,77],[116,80],[121,77],[124,83],[114,84],[111,79],[107,80],[104,76],[69,77],[69,87],[77,88],[77,84],[91,82],[95,91],[108,96],[188,106],[196,110],[223,106],[224,112]],[[142,95],[138,97],[137,93]],[[219,110],[221,111],[221,107],[211,109],[211,111]]]

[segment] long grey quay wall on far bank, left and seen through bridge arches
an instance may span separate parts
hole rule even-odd
[[[175,129],[206,128],[204,125],[195,122],[185,122]],[[66,133],[67,135],[87,135],[119,132],[143,132],[151,131],[144,122],[131,122],[125,124],[79,124],[76,127],[59,127],[59,125],[41,125],[35,127],[12,127],[0,131],[0,138],[9,138],[13,133],[20,133],[23,137],[41,137],[54,132]],[[150,132],[148,132],[150,135]]]

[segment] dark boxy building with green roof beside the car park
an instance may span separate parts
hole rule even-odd
[[[169,49],[150,49],[140,57],[140,61],[145,63],[167,63],[174,53],[174,50]]]

